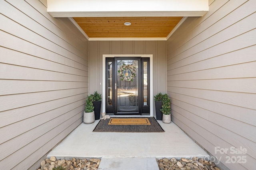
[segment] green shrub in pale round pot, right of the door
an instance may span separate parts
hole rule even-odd
[[[162,97],[162,109],[160,109],[160,111],[162,111],[163,113],[163,122],[164,123],[171,123],[171,100],[168,96],[168,94],[164,94]]]

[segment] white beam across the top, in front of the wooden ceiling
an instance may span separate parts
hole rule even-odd
[[[53,17],[203,16],[208,0],[47,0]]]

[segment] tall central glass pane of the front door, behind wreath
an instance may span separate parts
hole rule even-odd
[[[138,60],[117,60],[117,112],[138,112]]]

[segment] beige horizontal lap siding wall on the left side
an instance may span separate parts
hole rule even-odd
[[[46,2],[0,1],[1,170],[29,169],[82,123],[88,41]]]

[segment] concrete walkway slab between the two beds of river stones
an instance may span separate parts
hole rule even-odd
[[[155,157],[102,157],[98,170],[159,170]]]

